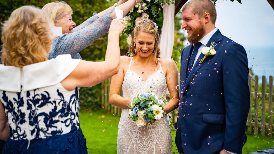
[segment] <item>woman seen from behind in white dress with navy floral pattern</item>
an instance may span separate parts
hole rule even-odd
[[[105,61],[59,55],[47,60],[53,36],[47,12],[23,6],[3,24],[0,139],[3,153],[87,153],[79,124],[79,91],[118,73],[121,19],[113,19]],[[96,72],[96,73],[95,73]]]

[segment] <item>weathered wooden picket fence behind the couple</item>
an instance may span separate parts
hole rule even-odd
[[[111,105],[109,102],[110,80],[111,79],[107,79],[103,82],[104,88],[102,89],[101,103],[107,112],[110,112],[114,115],[120,115],[122,109],[114,105]],[[267,135],[273,135],[273,76],[269,76],[269,93],[266,93],[266,76],[262,76],[261,92],[259,92],[258,81],[259,77],[257,75],[255,76],[255,78],[252,78],[251,75],[249,76],[249,90],[251,99],[249,114],[247,118],[247,131],[253,131],[255,135],[257,135],[260,130],[262,136],[264,136],[266,133]],[[254,91],[252,91],[252,87],[254,87]],[[120,91],[120,95],[123,96],[122,90]],[[173,123],[176,123],[177,113],[178,112],[172,113]],[[268,115],[267,117],[266,113]],[[266,118],[268,118],[267,121]]]

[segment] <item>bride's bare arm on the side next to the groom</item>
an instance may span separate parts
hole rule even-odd
[[[167,89],[170,93],[170,101],[165,105],[166,113],[172,112],[179,104],[179,85],[178,85],[178,69],[173,59],[165,58],[162,60],[166,71]]]

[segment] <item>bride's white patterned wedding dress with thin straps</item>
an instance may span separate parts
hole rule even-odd
[[[134,98],[136,94],[152,93],[158,97],[166,95],[167,84],[159,62],[160,69],[154,72],[146,81],[129,69],[125,73],[122,89],[124,98]],[[138,127],[128,118],[129,109],[124,108],[119,122],[117,153],[118,154],[171,154],[172,140],[167,115],[156,120],[152,125]]]

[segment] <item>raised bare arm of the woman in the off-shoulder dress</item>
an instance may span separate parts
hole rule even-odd
[[[120,64],[119,35],[125,26],[121,19],[114,19],[110,25],[105,61],[80,61],[78,66],[61,84],[67,90],[75,87],[91,87],[118,73]]]

